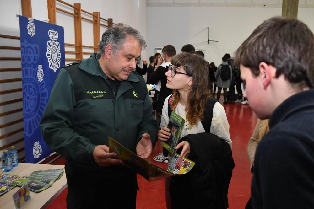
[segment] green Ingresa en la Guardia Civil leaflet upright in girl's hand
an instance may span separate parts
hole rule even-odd
[[[170,129],[171,136],[168,141],[161,142],[161,146],[165,147],[170,153],[174,154],[176,152],[176,146],[178,145],[181,132],[183,129],[184,119],[176,114],[174,111],[171,112],[168,126]]]

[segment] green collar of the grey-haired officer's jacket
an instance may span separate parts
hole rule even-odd
[[[92,53],[89,58],[82,61],[79,68],[91,75],[101,76],[107,79],[108,77],[106,76],[106,74],[101,72],[102,69],[98,62],[99,57],[100,55],[97,55],[97,53]],[[138,82],[139,79],[134,73],[131,73],[127,81]]]

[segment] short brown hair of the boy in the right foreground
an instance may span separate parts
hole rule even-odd
[[[235,64],[259,75],[259,64],[276,68],[295,88],[314,87],[314,35],[297,19],[273,17],[260,24],[236,51]]]

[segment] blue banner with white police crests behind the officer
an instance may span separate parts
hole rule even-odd
[[[63,27],[19,16],[21,37],[25,162],[37,163],[53,151],[39,123],[64,59]]]

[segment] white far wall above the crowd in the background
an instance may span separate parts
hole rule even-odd
[[[152,2],[152,0],[149,0]],[[221,63],[225,53],[232,56],[241,43],[264,20],[281,15],[280,7],[171,6],[147,7],[148,56],[154,46],[172,44],[180,53],[185,44],[206,50],[205,59]],[[314,8],[299,8],[298,19],[314,31]],[[209,42],[207,45],[207,27]]]

